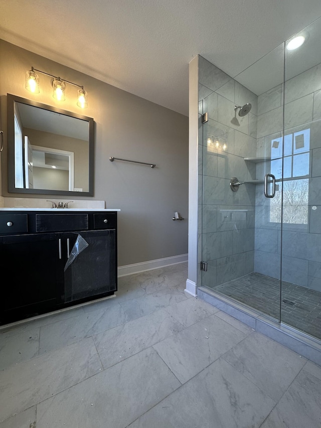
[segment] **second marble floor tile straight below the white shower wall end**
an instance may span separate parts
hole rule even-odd
[[[156,343],[153,348],[185,383],[245,337],[214,314]]]

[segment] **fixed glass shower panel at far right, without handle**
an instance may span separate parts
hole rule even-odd
[[[318,19],[286,42],[281,282],[281,322],[318,339],[321,339],[320,38],[321,19]],[[293,49],[295,42],[303,44]]]

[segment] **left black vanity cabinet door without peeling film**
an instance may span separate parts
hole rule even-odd
[[[62,301],[63,260],[56,234],[2,237],[1,322],[54,310]],[[1,242],[0,240],[0,242]]]

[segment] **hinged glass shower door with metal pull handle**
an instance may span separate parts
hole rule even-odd
[[[202,285],[277,321],[283,65],[283,44],[235,78],[199,61]]]

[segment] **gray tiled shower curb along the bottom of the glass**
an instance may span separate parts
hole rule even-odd
[[[315,364],[321,365],[321,341],[310,338],[304,333],[284,324],[276,323],[268,316],[246,308],[205,287],[197,289],[197,297],[252,327],[257,332],[297,352]]]

